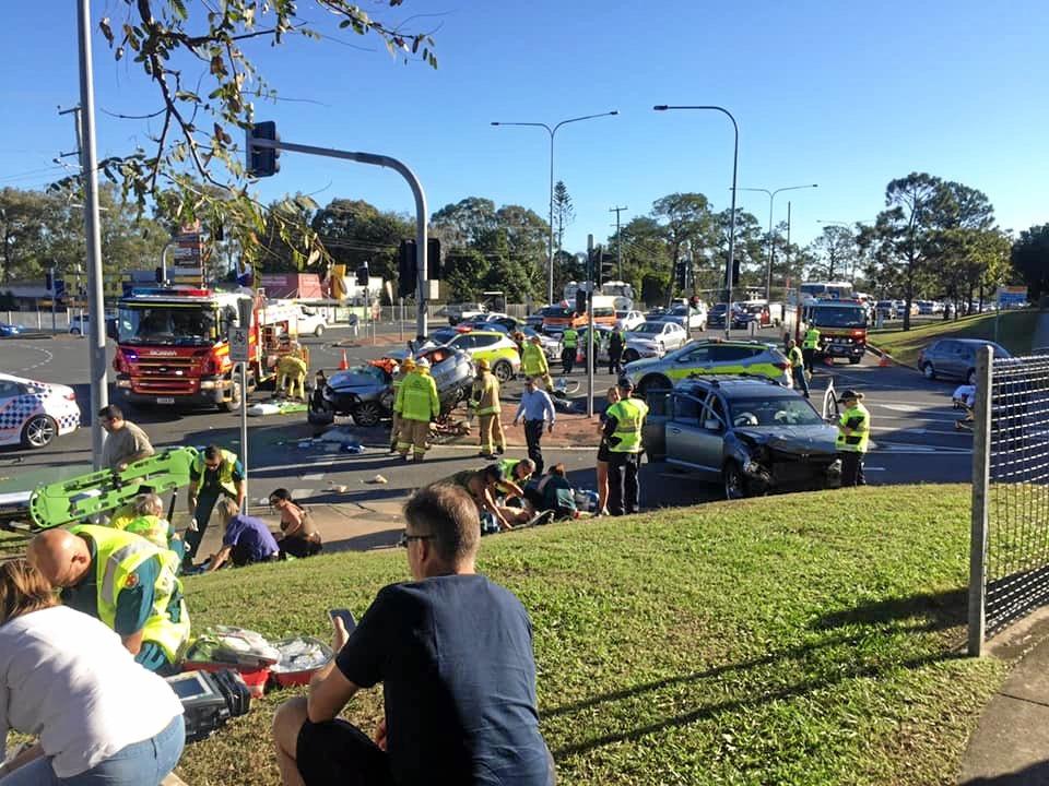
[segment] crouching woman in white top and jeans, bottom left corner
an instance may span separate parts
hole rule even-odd
[[[168,684],[23,559],[0,564],[0,742],[12,729],[39,739],[0,786],[156,786],[186,741]]]

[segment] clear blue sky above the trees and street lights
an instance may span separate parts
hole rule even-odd
[[[308,9],[310,0],[300,0]],[[123,0],[94,0],[93,16]],[[699,0],[404,0],[365,8],[435,28],[439,68],[392,60],[377,39],[354,46],[298,40],[251,47],[270,82],[296,102],[260,105],[283,139],[384,153],[420,176],[431,212],[464,196],[518,203],[545,216],[549,136],[493,128],[493,120],[558,120],[617,109],[562,128],[555,177],[576,205],[565,247],[611,231],[674,191],[729,204],[732,133],[717,112],[655,112],[655,104],[718,104],[740,123],[739,184],[777,189],[776,222],[792,201],[792,238],[818,219],[870,219],[888,180],[929,171],[981,189],[1001,226],[1049,221],[1049,3],[922,0],[880,3]],[[0,29],[0,187],[39,187],[60,175],[51,159],[74,146],[58,105],[78,98],[75,3],[9,3]],[[310,12],[309,15],[320,16]],[[46,34],[45,34],[46,32]],[[364,47],[362,50],[360,47]],[[131,63],[115,63],[95,36],[99,110],[157,108]],[[144,141],[141,122],[99,111],[98,154]],[[285,153],[263,198],[310,193],[413,211],[388,171]],[[740,194],[765,224],[768,198]]]

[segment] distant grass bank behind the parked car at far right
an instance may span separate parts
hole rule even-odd
[[[1013,355],[1029,355],[1040,311],[1003,312],[998,343]],[[978,314],[960,320],[938,321],[909,331],[871,331],[870,343],[908,366],[918,362],[918,353],[936,338],[986,338],[994,341],[995,315]]]

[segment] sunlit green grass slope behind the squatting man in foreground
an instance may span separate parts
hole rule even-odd
[[[959,654],[968,522],[964,486],[794,495],[486,538],[480,569],[531,615],[562,784],[953,784],[1007,668]],[[325,609],[360,616],[404,577],[400,551],[343,553],[186,592],[198,630],[327,636]],[[293,694],[179,774],[276,784],[268,728]],[[380,715],[379,690],[347,713],[368,731]]]

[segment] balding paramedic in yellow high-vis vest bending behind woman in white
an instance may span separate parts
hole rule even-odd
[[[145,538],[85,524],[48,529],[30,544],[30,562],[66,606],[102,620],[150,671],[173,675],[189,643],[178,557]]]

